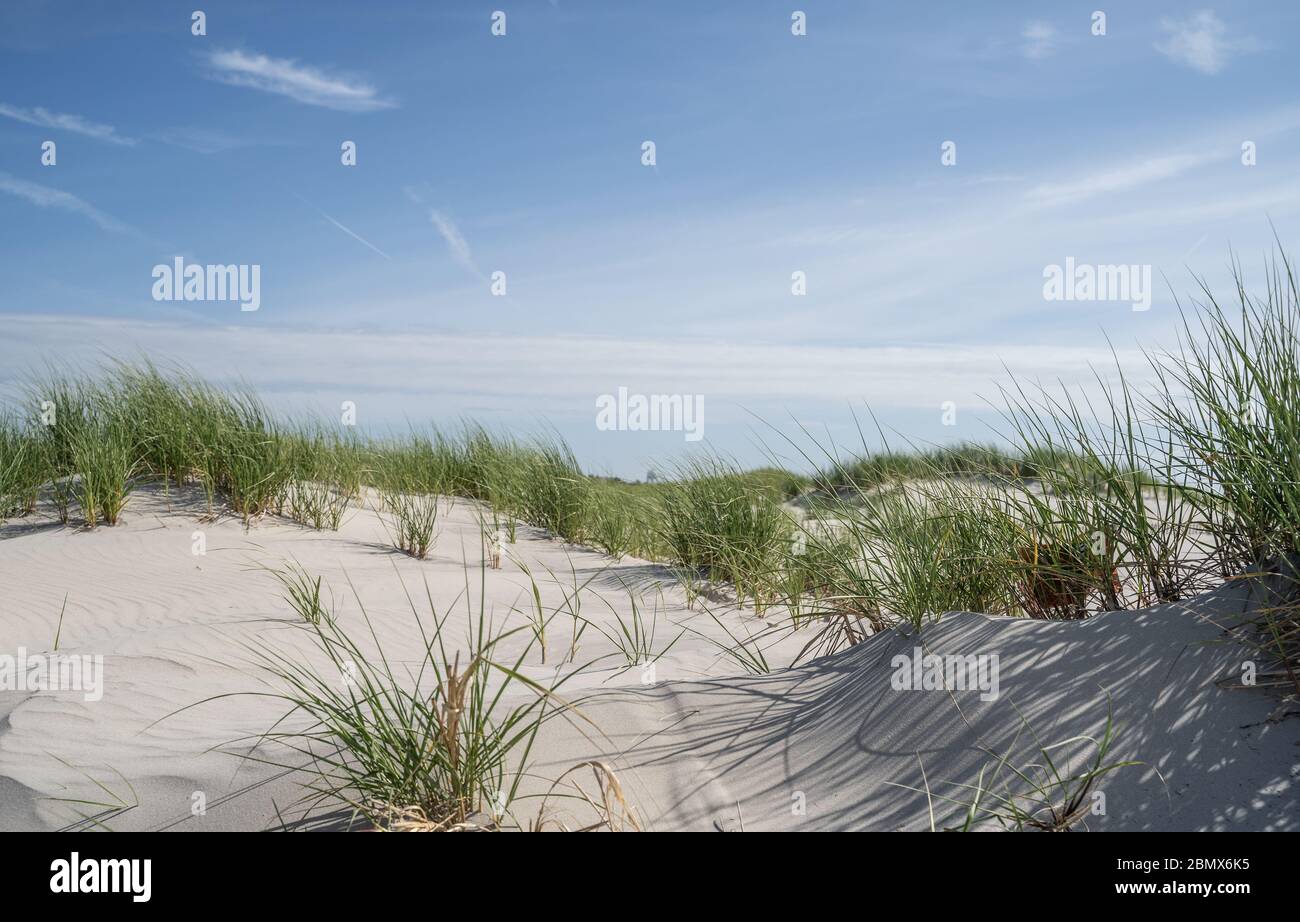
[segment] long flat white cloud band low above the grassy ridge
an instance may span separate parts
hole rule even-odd
[[[237,312],[238,313],[238,312]],[[266,328],[264,324],[196,326],[84,316],[0,313],[0,368],[21,382],[21,369],[57,355],[74,367],[103,359],[112,342],[121,358],[179,362],[213,380],[246,380],[268,397],[324,398],[339,390],[394,389],[455,416],[473,407],[502,414],[571,416],[594,412],[598,394],[624,385],[642,393],[701,393],[715,406],[764,407],[818,401],[844,407],[979,406],[994,397],[1006,368],[1026,380],[1087,384],[1092,367],[1114,367],[1105,345],[800,346],[675,338],[573,334],[491,336],[419,330],[358,332]],[[270,334],[273,330],[273,334]],[[429,356],[438,356],[430,362]],[[1118,358],[1135,381],[1149,377],[1136,350]],[[1005,365],[1004,365],[1005,363]],[[378,404],[374,404],[378,407]],[[400,419],[398,416],[396,419]]]

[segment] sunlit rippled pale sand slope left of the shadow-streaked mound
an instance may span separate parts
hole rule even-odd
[[[0,828],[61,828],[101,814],[112,817],[105,821],[112,828],[124,830],[263,828],[274,824],[277,814],[291,819],[298,779],[278,779],[281,772],[238,758],[251,750],[248,737],[269,730],[286,710],[283,702],[247,694],[269,691],[261,655],[337,672],[322,662],[300,619],[281,599],[278,583],[263,568],[286,559],[324,576],[338,618],[354,636],[367,631],[364,605],[380,645],[399,670],[417,666],[422,655],[412,599],[425,629],[429,599],[439,612],[451,611],[452,646],[468,629],[468,612],[480,607],[500,628],[525,624],[532,590],[521,564],[540,584],[545,610],[564,610],[551,620],[546,663],[540,654],[525,663],[541,681],[575,668],[564,662],[573,624],[564,598],[575,583],[585,586],[581,615],[611,633],[615,612],[629,616],[632,594],[647,619],[658,610],[655,650],[681,632],[680,624],[725,639],[711,619],[686,609],[684,593],[660,567],[644,560],[614,564],[534,529],[519,531],[517,542],[508,546],[514,559],[502,570],[485,571],[478,512],[465,501],[445,508],[437,545],[425,560],[394,551],[368,508],[351,511],[337,533],[278,521],[246,531],[229,518],[199,521],[199,511],[192,493],[169,502],[142,492],[116,528],[70,529],[49,518],[0,525],[0,585],[6,588],[0,597],[0,654],[20,646],[48,652],[60,632],[60,653],[101,654],[105,675],[100,701],[84,701],[79,692],[0,691]],[[195,555],[200,531],[207,553]],[[763,629],[753,614],[715,610],[737,636]],[[508,640],[498,649],[499,659],[512,659],[529,636],[520,632]],[[801,642],[783,641],[774,650],[776,661],[788,662]],[[567,693],[642,681],[641,670],[627,670],[615,645],[593,628],[582,633],[573,662],[593,665],[567,683]],[[734,666],[714,644],[688,632],[655,663],[654,679],[729,670]],[[202,817],[191,815],[196,791],[207,798]],[[131,809],[103,806],[118,800]]]

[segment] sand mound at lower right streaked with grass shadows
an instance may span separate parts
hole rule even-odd
[[[1188,606],[1072,623],[958,612],[927,628],[928,652],[998,654],[992,702],[976,691],[893,691],[889,661],[918,642],[897,631],[767,676],[672,683],[581,706],[623,731],[604,756],[636,779],[655,828],[920,830],[926,779],[937,824],[958,824],[942,798],[968,801],[970,789],[953,783],[975,784],[994,754],[1019,767],[1040,762],[1032,733],[1044,744],[1101,736],[1109,692],[1110,759],[1144,765],[1104,780],[1106,811],[1089,828],[1296,830],[1300,720],[1270,723],[1275,698],[1216,684],[1239,675],[1243,648],[1201,619],[1222,619],[1238,601],[1225,589]],[[551,769],[588,748],[556,745]]]

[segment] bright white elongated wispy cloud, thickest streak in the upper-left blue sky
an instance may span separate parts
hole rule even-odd
[[[391,109],[369,83],[343,74],[328,74],[292,59],[242,51],[214,51],[207,56],[208,77],[218,83],[287,96],[306,105],[341,112]]]

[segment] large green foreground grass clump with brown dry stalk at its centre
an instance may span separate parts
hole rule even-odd
[[[464,653],[451,653],[451,612],[438,611],[425,586],[426,611],[411,599],[425,649],[417,663],[385,655],[360,597],[364,639],[333,619],[307,624],[329,667],[266,654],[290,714],[265,739],[307,757],[309,798],[342,802],[376,828],[507,824],[537,732],[556,713],[554,688],[520,674],[530,644],[503,655],[523,628],[494,629],[482,590],[477,609],[469,596],[467,586]],[[530,693],[520,700],[520,691]],[[289,728],[298,718],[306,728]]]

